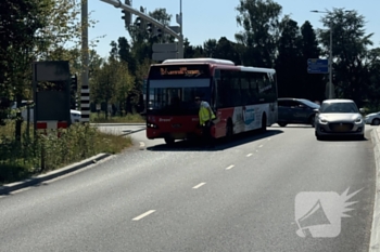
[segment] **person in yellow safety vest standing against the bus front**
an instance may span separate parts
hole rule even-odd
[[[211,134],[213,120],[216,118],[211,106],[207,102],[201,101],[199,96],[195,97],[195,103],[200,106],[199,118],[200,124],[203,128],[204,141],[206,141],[210,147],[214,147],[214,137]]]

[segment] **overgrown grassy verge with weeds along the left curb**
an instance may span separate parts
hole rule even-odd
[[[89,124],[77,123],[60,132],[38,133],[36,137],[28,136],[23,125],[21,142],[15,141],[14,129],[14,121],[0,127],[0,185],[60,169],[100,152],[121,152],[132,145],[129,136],[103,133]]]

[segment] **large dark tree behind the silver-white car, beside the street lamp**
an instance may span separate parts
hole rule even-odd
[[[333,83],[338,96],[352,98],[360,106],[370,85],[369,69],[373,59],[368,47],[372,45],[372,34],[366,35],[365,17],[356,11],[334,9],[322,17],[322,23],[329,28],[319,35],[326,55],[332,29]]]

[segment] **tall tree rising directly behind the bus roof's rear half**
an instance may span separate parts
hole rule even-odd
[[[245,65],[273,67],[281,5],[271,0],[240,0],[237,11],[240,13],[237,22],[243,31],[235,37],[244,45],[242,61]]]

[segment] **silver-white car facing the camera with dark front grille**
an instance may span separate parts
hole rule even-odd
[[[315,136],[352,135],[364,138],[365,121],[351,100],[324,101],[315,118]]]

